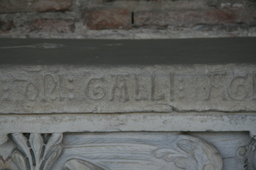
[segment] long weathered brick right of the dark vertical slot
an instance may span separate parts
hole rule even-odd
[[[134,13],[134,26],[193,27],[244,23],[255,25],[256,10],[146,11]]]

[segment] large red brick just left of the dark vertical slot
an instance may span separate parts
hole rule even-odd
[[[125,9],[89,10],[83,13],[86,25],[90,29],[130,29],[132,13]]]

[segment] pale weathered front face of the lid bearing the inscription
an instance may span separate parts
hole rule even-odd
[[[169,106],[176,110],[187,107],[184,111],[256,109],[253,104],[256,100],[254,71],[198,71],[193,74],[192,71],[184,73],[167,69],[127,69],[122,72],[115,69],[104,71],[103,68],[60,71],[26,67],[25,70],[26,73],[0,74],[0,100],[3,103],[15,100],[18,104],[25,101],[37,105],[43,102],[48,109],[59,106],[54,112],[65,112],[68,106],[76,107],[77,102],[83,103],[76,107],[78,112],[100,112],[106,107],[109,108],[106,112],[109,112],[116,104],[121,104],[117,112],[130,112],[129,105],[136,107],[136,112],[167,111]],[[200,109],[197,106],[201,106]],[[29,107],[25,112],[33,112]]]

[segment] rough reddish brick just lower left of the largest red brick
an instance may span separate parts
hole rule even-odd
[[[26,27],[30,32],[73,33],[75,31],[74,21],[61,19],[36,19]]]

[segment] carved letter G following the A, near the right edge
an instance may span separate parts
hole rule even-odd
[[[245,79],[247,79],[247,75],[246,76],[236,76],[236,77],[234,77],[229,82],[228,87],[227,87],[228,95],[230,96],[230,98],[235,99],[235,100],[242,100],[242,99],[246,98],[246,96],[248,94],[248,89],[247,89],[246,85],[244,84],[244,82],[243,83],[239,83],[237,85],[236,90],[234,92],[232,92],[232,90],[231,90],[232,87],[231,86],[232,86],[234,80],[237,80],[239,78],[243,79],[245,81]],[[244,93],[242,95],[239,95],[239,87],[244,87]],[[239,96],[236,96],[235,94],[237,94]]]

